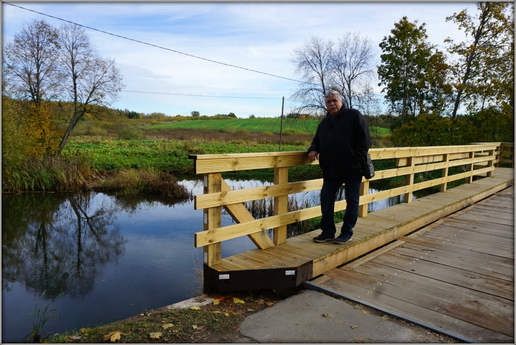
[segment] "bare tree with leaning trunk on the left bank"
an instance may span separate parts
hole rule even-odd
[[[63,24],[59,29],[60,62],[65,81],[62,84],[73,100],[74,112],[63,135],[57,154],[65,147],[73,128],[91,105],[107,105],[122,90],[122,76],[112,59],[98,56],[83,28]]]

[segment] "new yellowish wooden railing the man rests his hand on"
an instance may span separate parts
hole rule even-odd
[[[397,160],[397,168],[377,170],[367,180],[362,178],[359,216],[367,216],[367,204],[405,194],[405,202],[412,200],[412,193],[432,186],[441,186],[446,191],[449,182],[465,178],[473,183],[473,177],[491,177],[495,166],[512,163],[513,143],[479,143],[458,146],[394,147],[371,149],[373,159]],[[266,249],[286,242],[287,225],[321,215],[320,206],[287,211],[288,195],[318,190],[322,178],[288,183],[288,168],[314,165],[306,151],[266,152],[244,154],[191,155],[196,174],[204,174],[204,194],[195,196],[195,209],[204,210],[204,228],[195,234],[195,247],[204,247],[204,264],[212,266],[221,260],[221,242],[240,236],[248,236],[257,248]],[[451,167],[465,167],[463,172],[449,175]],[[222,178],[222,172],[252,169],[274,169],[274,184],[264,187],[232,190]],[[414,183],[414,174],[441,171],[441,177]],[[395,176],[406,176],[406,185],[369,194],[369,182]],[[274,198],[273,216],[254,219],[244,202]],[[221,208],[227,210],[237,224],[221,226]],[[346,201],[335,203],[335,211],[346,208]],[[272,240],[265,230],[273,229]]]

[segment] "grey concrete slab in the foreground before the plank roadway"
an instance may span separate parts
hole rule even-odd
[[[364,307],[366,308],[366,307]],[[248,316],[238,343],[440,343],[425,328],[326,294],[303,290]]]

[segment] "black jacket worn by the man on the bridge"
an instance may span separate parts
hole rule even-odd
[[[357,109],[342,106],[335,117],[329,113],[317,126],[308,152],[319,154],[323,178],[361,172],[360,159],[371,146],[369,126]]]

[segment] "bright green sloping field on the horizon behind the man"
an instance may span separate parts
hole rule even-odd
[[[314,134],[319,120],[283,119],[283,131],[295,130],[303,133]],[[280,118],[256,118],[256,119],[231,119],[231,120],[192,120],[175,123],[151,125],[146,129],[212,129],[227,130],[228,128],[238,130],[246,129],[249,132],[272,132],[279,133],[281,128]],[[370,126],[373,130],[373,126]],[[390,134],[389,128],[378,127],[379,134]]]

